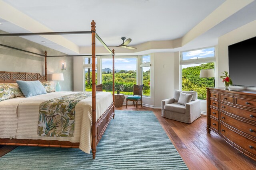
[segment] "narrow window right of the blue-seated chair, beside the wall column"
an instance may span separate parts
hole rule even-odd
[[[150,55],[142,56],[141,61],[143,96],[150,96]]]

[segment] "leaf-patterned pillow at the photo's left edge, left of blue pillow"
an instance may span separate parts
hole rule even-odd
[[[0,83],[0,101],[24,96],[18,83]]]

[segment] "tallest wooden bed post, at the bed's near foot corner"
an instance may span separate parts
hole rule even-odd
[[[96,156],[96,84],[95,84],[95,26],[94,20],[91,22],[92,31],[92,158],[95,159]]]

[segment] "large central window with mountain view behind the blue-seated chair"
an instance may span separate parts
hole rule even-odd
[[[137,58],[115,58],[115,90],[121,85],[125,95],[133,94],[137,84]],[[102,85],[104,91],[112,92],[112,59],[102,59]]]

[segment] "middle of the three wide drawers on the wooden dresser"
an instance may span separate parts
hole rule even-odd
[[[246,121],[238,120],[238,119],[236,119],[230,115],[227,115],[221,111],[220,111],[220,121],[223,121],[224,123],[230,125],[231,127],[234,127],[234,129],[242,131],[243,133],[246,133],[247,135],[256,137],[256,125],[253,125]]]

